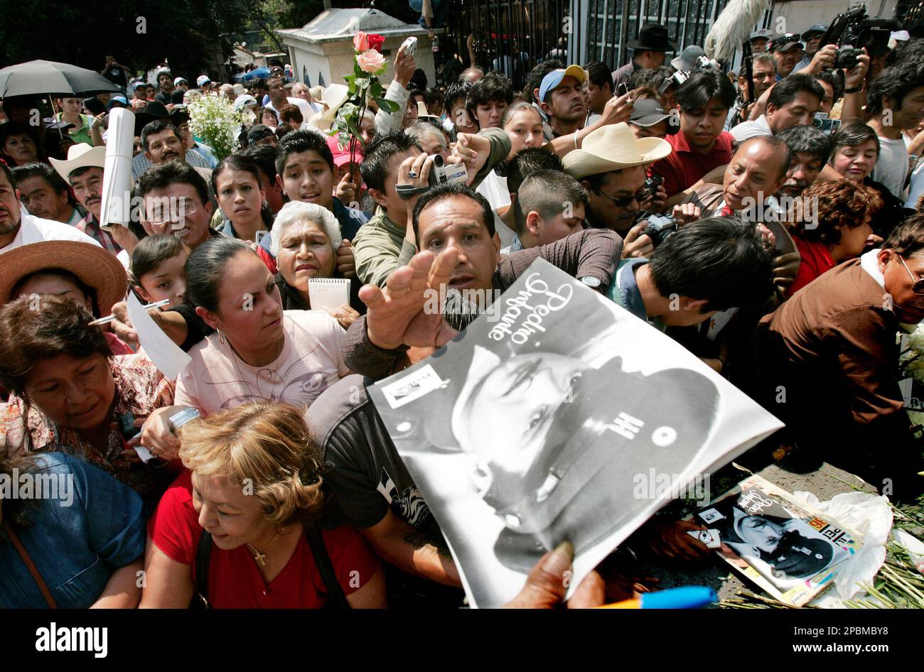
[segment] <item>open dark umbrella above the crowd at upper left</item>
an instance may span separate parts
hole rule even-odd
[[[13,96],[91,96],[122,91],[98,72],[55,61],[29,61],[0,69],[0,98]]]

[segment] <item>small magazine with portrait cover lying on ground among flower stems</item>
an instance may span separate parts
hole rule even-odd
[[[694,519],[718,534],[719,556],[790,606],[831,587],[863,546],[860,534],[756,475]]]

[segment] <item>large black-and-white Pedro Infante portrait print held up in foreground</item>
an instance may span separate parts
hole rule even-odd
[[[516,596],[565,540],[573,590],[687,484],[781,426],[542,259],[456,339],[369,392],[472,606]]]

